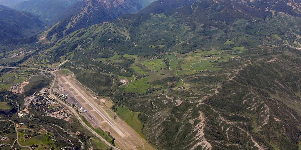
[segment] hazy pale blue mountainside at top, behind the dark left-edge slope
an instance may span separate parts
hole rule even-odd
[[[79,0],[29,0],[19,2],[12,8],[28,11],[39,15],[45,21],[52,21],[53,17],[64,11]]]

